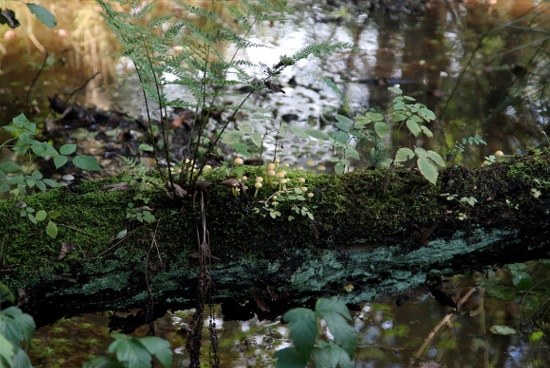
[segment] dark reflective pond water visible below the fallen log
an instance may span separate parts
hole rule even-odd
[[[546,281],[514,286],[512,279],[519,270]],[[546,316],[546,322],[533,319],[536,313],[529,311],[529,305],[537,304],[538,298],[548,303],[549,277],[548,262],[511,265],[490,275],[455,276],[448,287],[461,297],[472,285],[482,285],[466,298],[460,312],[441,305],[424,291],[385,303],[365,303],[354,312],[353,324],[359,335],[355,367],[547,367],[548,339],[537,339],[528,332],[533,328],[528,325],[548,323],[544,305],[539,304],[538,312]],[[185,343],[191,314],[175,311],[155,322],[157,336],[171,342],[174,367],[188,364]],[[224,320],[223,306],[221,310],[215,306],[214,314],[222,367],[274,367],[272,353],[289,344],[288,329],[280,318]],[[109,313],[87,314],[39,329],[30,351],[33,363],[36,367],[77,367],[94,355],[104,354],[111,342],[108,320]],[[503,335],[498,332],[503,326],[514,331]],[[540,328],[534,327],[534,331]],[[146,331],[142,327],[136,334]],[[208,362],[206,321],[203,340],[203,359]]]

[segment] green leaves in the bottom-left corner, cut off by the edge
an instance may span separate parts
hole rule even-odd
[[[17,307],[0,310],[0,367],[31,367],[21,345],[28,345],[36,328],[32,317]]]

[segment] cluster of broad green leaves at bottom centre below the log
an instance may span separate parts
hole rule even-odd
[[[308,361],[318,368],[353,366],[357,333],[348,308],[336,297],[319,299],[315,311],[291,309],[283,320],[289,323],[293,346],[275,353],[277,368],[306,367]]]

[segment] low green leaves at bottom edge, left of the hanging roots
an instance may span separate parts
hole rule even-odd
[[[153,358],[163,367],[172,366],[172,350],[168,341],[159,337],[132,337],[114,335],[109,345],[111,357],[97,357],[84,364],[84,368],[150,368]]]

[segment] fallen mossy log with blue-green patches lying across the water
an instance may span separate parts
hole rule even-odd
[[[261,170],[244,169],[251,182]],[[405,292],[429,272],[539,259],[550,250],[548,150],[476,170],[452,167],[437,185],[408,169],[288,175],[291,182],[306,176],[314,220],[289,221],[284,204],[280,218],[261,216],[250,189],[235,196],[213,183],[202,192],[214,302],[253,300],[273,310],[283,301],[340,294],[355,303]],[[35,225],[20,217],[17,203],[0,201],[0,279],[39,324],[151,301],[160,314],[193,306],[201,193],[175,200],[164,188],[106,186],[117,181],[26,198],[36,210],[57,211],[55,239],[45,231],[49,219]],[[257,198],[269,190],[264,185]],[[140,198],[149,199],[157,221],[127,219],[128,203],[140,205]],[[127,235],[117,239],[123,229]]]

